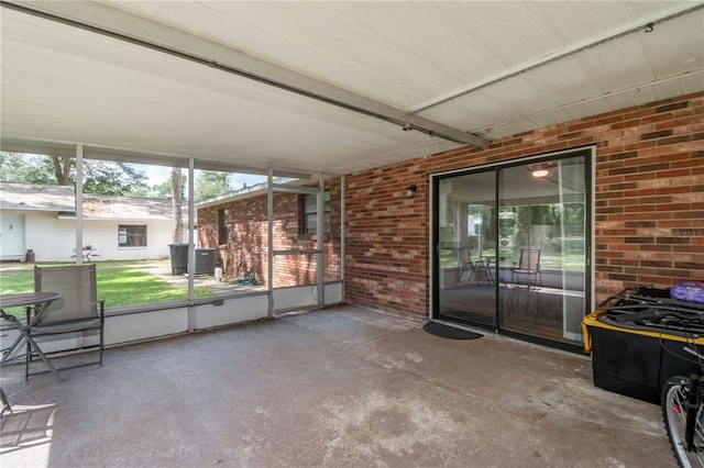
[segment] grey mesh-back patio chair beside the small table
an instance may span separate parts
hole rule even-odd
[[[57,335],[72,339],[69,349],[97,349],[98,357],[94,360],[77,365],[68,365],[56,370],[65,370],[89,365],[102,366],[105,303],[97,299],[96,265],[74,265],[62,267],[34,267],[34,290],[61,292],[62,298],[52,302],[42,319],[32,327],[30,335],[38,339],[40,347],[46,343],[45,338]],[[25,378],[46,371],[30,371],[30,365],[36,353],[51,358],[51,350],[28,349]]]

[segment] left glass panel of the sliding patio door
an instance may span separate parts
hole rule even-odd
[[[495,199],[494,170],[439,180],[440,316],[496,324]]]

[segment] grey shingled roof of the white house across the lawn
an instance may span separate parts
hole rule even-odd
[[[84,193],[84,220],[170,220],[172,201]],[[74,216],[73,187],[0,182],[2,210],[48,211]]]

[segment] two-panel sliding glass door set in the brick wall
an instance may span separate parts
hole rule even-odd
[[[433,317],[581,343],[591,304],[591,155],[433,177]]]

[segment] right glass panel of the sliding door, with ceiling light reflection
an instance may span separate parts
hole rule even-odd
[[[585,174],[582,156],[499,171],[503,330],[581,341],[587,290]]]

